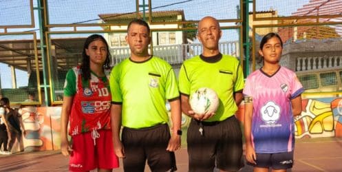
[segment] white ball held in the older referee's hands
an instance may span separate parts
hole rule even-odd
[[[190,96],[191,109],[198,115],[215,113],[219,107],[219,98],[213,89],[202,87]]]

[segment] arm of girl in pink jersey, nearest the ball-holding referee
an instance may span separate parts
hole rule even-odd
[[[250,163],[256,164],[257,156],[252,145],[251,130],[252,130],[252,116],[253,116],[253,98],[246,97],[244,104],[244,135],[246,140],[246,160]]]

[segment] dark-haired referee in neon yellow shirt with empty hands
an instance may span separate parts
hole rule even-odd
[[[148,52],[149,25],[141,19],[127,27],[131,56],[111,71],[111,118],[116,155],[125,171],[175,171],[180,149],[181,111],[177,78],[169,63]],[[166,100],[171,106],[172,135]],[[123,126],[121,140],[120,129]]]

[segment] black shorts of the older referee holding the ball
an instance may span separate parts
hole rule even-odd
[[[238,171],[242,159],[242,131],[239,121],[232,116],[221,122],[191,120],[187,132],[189,171]]]

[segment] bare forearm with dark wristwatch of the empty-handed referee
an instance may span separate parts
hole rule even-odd
[[[171,120],[172,120],[172,135],[169,140],[169,145],[167,146],[167,151],[176,151],[180,148],[180,136],[177,134],[177,130],[181,127],[182,113],[180,110],[180,99],[172,100],[170,102],[171,106]]]

